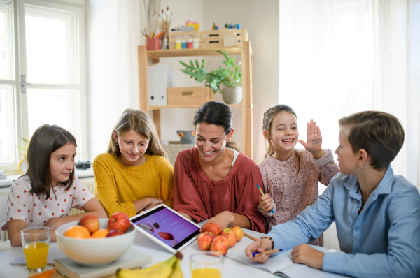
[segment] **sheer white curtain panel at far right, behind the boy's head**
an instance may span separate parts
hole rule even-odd
[[[391,166],[420,189],[420,1],[374,0],[373,108],[402,122],[405,143]]]

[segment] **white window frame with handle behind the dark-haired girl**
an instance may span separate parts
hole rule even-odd
[[[80,160],[87,159],[88,153],[88,122],[87,122],[87,70],[86,70],[86,6],[85,0],[10,0],[13,6],[13,51],[15,58],[13,80],[0,80],[0,85],[13,85],[15,87],[15,163],[0,164],[0,170],[6,175],[19,174],[18,166],[25,155],[20,147],[27,143],[22,138],[29,137],[27,89],[76,89],[78,90],[78,154]],[[76,15],[76,52],[78,54],[78,73],[75,84],[25,84],[25,92],[21,90],[22,75],[27,76],[26,40],[25,40],[25,7],[34,6],[48,10],[58,10]],[[20,147],[18,147],[20,146]]]

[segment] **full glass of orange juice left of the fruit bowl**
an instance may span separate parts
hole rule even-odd
[[[26,228],[20,231],[28,272],[41,272],[47,266],[50,227]]]

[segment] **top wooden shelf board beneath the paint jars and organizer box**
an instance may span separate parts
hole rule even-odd
[[[220,55],[216,50],[225,50],[230,55],[240,55],[241,47],[215,47],[215,48],[187,48],[170,50],[147,50],[147,56],[151,59],[162,57],[184,57],[184,56],[209,56]]]

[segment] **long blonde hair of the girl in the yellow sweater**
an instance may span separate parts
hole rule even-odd
[[[121,154],[120,148],[116,145],[116,141],[113,138],[113,133],[116,132],[117,136],[120,136],[132,129],[139,133],[144,139],[149,140],[146,150],[148,154],[166,157],[166,152],[160,145],[158,131],[156,131],[155,124],[145,112],[137,109],[126,109],[123,114],[121,114],[120,119],[113,128],[111,139],[109,140],[108,152],[110,154],[116,154],[117,156],[118,154]]]

